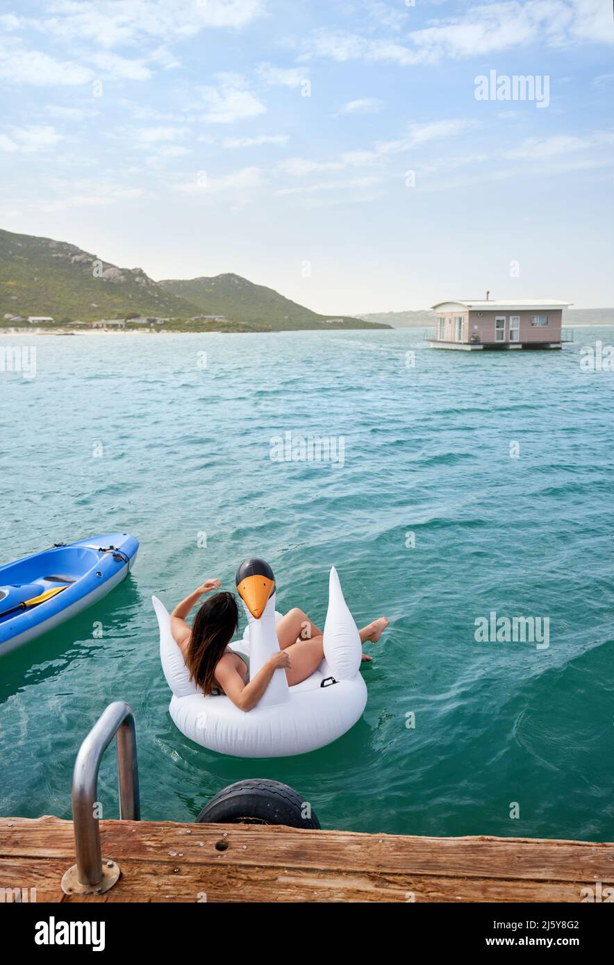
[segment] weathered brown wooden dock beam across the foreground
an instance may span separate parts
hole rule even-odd
[[[614,844],[418,838],[262,825],[101,821],[102,854],[119,862],[107,901],[579,901],[614,884]],[[218,850],[216,844],[227,847]],[[0,885],[65,896],[72,824],[0,818]]]

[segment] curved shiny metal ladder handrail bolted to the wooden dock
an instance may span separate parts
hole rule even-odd
[[[102,861],[98,827],[98,770],[102,755],[116,737],[120,788],[120,819],[139,821],[139,777],[136,729],[132,708],[124,701],[109,703],[89,732],[77,754],[72,775],[72,824],[76,865],[62,878],[66,894],[102,893],[120,876],[119,866]]]

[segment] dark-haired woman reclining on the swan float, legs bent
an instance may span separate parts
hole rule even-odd
[[[290,687],[314,673],[324,656],[322,631],[297,608],[277,620],[279,653],[269,657],[253,680],[249,679],[246,660],[228,646],[238,627],[237,600],[233,593],[209,596],[190,628],[185,622],[190,610],[201,596],[219,590],[220,586],[217,579],[206,580],[194,593],[181,600],[171,615],[171,631],[181,649],[185,666],[204,694],[224,693],[240,710],[247,711],[260,701],[278,668],[286,671]],[[359,631],[361,643],[368,640],[375,643],[387,625],[386,617],[380,617],[364,626]],[[362,659],[371,660],[371,657],[363,653]]]

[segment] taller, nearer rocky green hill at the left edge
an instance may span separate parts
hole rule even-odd
[[[141,268],[118,268],[66,241],[0,231],[0,318],[9,313],[91,321],[189,317],[194,309]]]

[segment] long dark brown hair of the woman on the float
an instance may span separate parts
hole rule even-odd
[[[215,667],[237,632],[238,607],[234,593],[213,593],[198,610],[185,663],[190,679],[203,693],[215,687]]]

